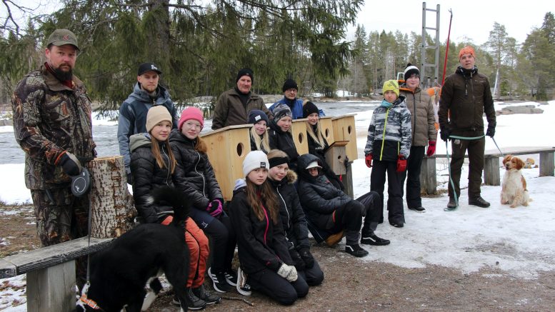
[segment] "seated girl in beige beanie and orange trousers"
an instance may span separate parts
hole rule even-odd
[[[149,133],[130,137],[133,198],[135,208],[144,223],[166,225],[173,218],[171,206],[154,205],[149,200],[154,188],[174,186],[172,173],[179,166],[169,143],[171,121],[171,115],[165,106],[154,106],[146,114],[146,129]],[[187,305],[190,310],[198,310],[221,299],[204,290],[204,269],[209,243],[191,218],[186,221],[185,241],[191,260],[187,280]],[[176,303],[179,304],[179,301]]]

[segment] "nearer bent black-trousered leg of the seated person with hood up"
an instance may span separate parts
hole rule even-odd
[[[359,235],[362,225],[362,209],[364,205],[359,201],[349,201],[349,203],[337,208],[330,218],[334,218],[334,226],[331,233],[345,231],[347,245],[359,243]]]

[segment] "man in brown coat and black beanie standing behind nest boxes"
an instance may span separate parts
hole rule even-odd
[[[251,92],[253,81],[254,76],[251,69],[239,70],[235,79],[235,88],[225,91],[216,101],[212,130],[246,124],[249,111],[253,109],[264,111],[269,119],[274,117],[268,111],[264,100],[258,94]]]

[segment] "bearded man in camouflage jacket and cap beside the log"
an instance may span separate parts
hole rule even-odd
[[[86,236],[89,196],[73,196],[70,176],[96,156],[91,100],[72,72],[79,51],[76,37],[56,29],[46,46],[46,62],[19,81],[11,100],[43,246]]]

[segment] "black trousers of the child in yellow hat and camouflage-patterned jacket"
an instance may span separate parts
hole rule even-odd
[[[372,173],[370,174],[370,190],[379,193],[381,205],[384,205],[384,189],[387,173],[387,211],[389,222],[405,221],[403,211],[403,185],[401,184],[401,173],[396,171],[396,161],[374,161]],[[384,218],[381,211],[380,221]]]

